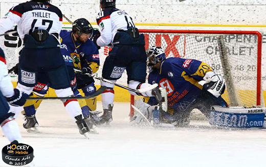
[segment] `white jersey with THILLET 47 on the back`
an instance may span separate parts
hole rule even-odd
[[[0,34],[17,24],[21,39],[37,29],[46,29],[51,33],[60,33],[62,12],[49,3],[26,2],[12,7],[4,18],[0,19]]]

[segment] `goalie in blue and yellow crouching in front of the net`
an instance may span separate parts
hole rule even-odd
[[[221,97],[226,87],[223,77],[205,62],[179,57],[166,59],[163,49],[155,46],[147,51],[147,56],[148,82],[158,83],[167,91],[168,111],[160,112],[161,123],[187,126],[193,109],[210,117],[212,106],[228,107]],[[157,101],[151,97],[145,98],[145,102],[150,107],[144,115],[151,119],[153,112],[158,112]],[[140,117],[135,115],[131,120],[140,121]]]

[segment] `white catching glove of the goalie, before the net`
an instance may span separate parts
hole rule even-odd
[[[205,90],[210,92],[213,96],[219,97],[225,92],[225,80],[220,74],[215,74],[213,71],[207,72],[203,78],[204,80],[198,82]]]

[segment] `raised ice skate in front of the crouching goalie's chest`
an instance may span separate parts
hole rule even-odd
[[[167,92],[164,88],[156,87],[152,90],[152,95],[157,99],[160,111],[167,112]]]

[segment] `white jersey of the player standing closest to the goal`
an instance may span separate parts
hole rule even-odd
[[[117,30],[135,27],[132,18],[125,11],[117,8],[105,8],[99,12],[97,24],[101,32],[101,36],[97,39],[97,45],[100,47],[113,44]]]

